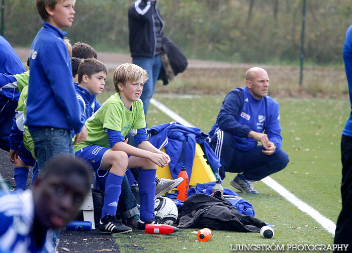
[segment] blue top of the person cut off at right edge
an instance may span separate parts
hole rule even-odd
[[[347,29],[342,55],[348,81],[349,100],[352,109],[352,26]],[[352,110],[342,131],[342,135],[352,137]]]

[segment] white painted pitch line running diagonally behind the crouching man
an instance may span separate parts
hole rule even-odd
[[[173,120],[186,125],[186,126],[191,126],[195,127],[192,125],[190,122],[182,118],[180,115],[175,113],[174,111],[170,110],[167,108],[165,105],[162,103],[158,102],[154,98],[150,99],[150,103],[156,106],[158,109],[160,109],[162,112],[164,112],[166,115],[171,117]],[[307,213],[309,216],[311,216],[313,219],[315,219],[323,228],[325,228],[329,233],[332,233],[335,235],[335,229],[336,225],[333,221],[330,219],[326,218],[323,216],[320,212],[315,210],[313,207],[308,205],[307,203],[303,202],[300,200],[298,197],[296,197],[294,194],[289,192],[285,187],[280,185],[278,182],[276,182],[274,179],[271,177],[266,177],[261,180],[263,183],[271,187],[274,191],[279,193],[281,196],[283,196],[285,199],[287,199],[289,202],[291,202],[293,205],[297,206],[298,209],[301,211]]]

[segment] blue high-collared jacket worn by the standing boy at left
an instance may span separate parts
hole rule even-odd
[[[63,39],[66,33],[47,22],[33,40],[25,124],[74,130],[84,124],[72,79],[71,62]]]

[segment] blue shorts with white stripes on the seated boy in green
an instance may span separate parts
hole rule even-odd
[[[87,163],[89,163],[99,177],[104,177],[109,170],[104,170],[104,175],[99,175],[98,171],[100,169],[100,166],[102,165],[103,156],[108,150],[108,148],[104,148],[99,145],[92,145],[78,150],[75,155],[77,157],[83,158]]]

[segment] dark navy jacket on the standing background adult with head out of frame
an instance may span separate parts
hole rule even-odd
[[[128,9],[129,45],[132,57],[154,57],[154,33],[163,35],[164,23],[155,1],[137,0]],[[161,30],[154,31],[153,14],[156,12],[161,22]]]

